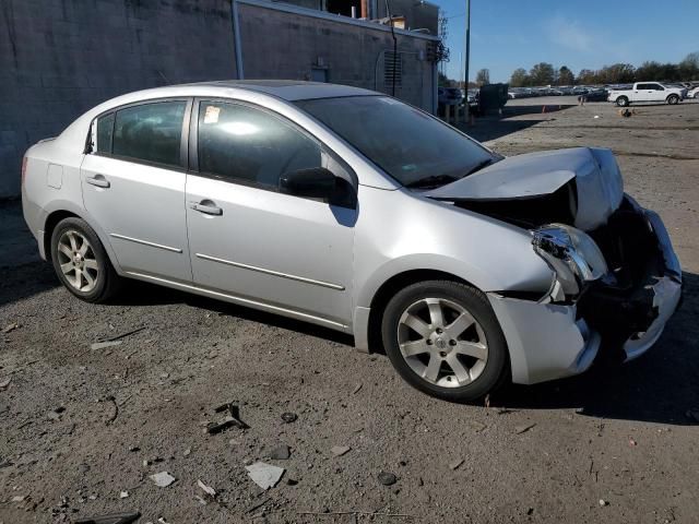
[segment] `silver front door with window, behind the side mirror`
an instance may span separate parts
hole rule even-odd
[[[203,100],[194,118],[197,169],[187,180],[194,284],[348,325],[356,209],[280,192],[284,172],[343,168],[316,139],[264,109]]]

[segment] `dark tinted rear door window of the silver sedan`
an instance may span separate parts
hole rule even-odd
[[[141,104],[118,110],[111,153],[151,164],[181,166],[180,145],[186,107],[185,100],[177,100]]]

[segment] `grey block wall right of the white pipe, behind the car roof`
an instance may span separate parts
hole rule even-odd
[[[383,51],[393,50],[389,32],[274,7],[238,5],[246,79],[311,80],[311,70],[320,68],[331,83],[391,93],[383,74]],[[428,40],[398,34],[403,81],[395,96],[431,111],[435,73],[434,64],[424,59],[427,45]]]

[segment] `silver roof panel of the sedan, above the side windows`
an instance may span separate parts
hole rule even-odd
[[[209,94],[211,94],[212,88],[221,88],[222,95],[225,94],[225,90],[244,90],[276,96],[287,102],[378,94],[374,91],[353,87],[351,85],[301,82],[296,80],[220,80],[156,87],[155,90],[149,91],[151,94],[153,94],[153,91],[162,91],[163,96],[167,96],[169,91],[180,91],[182,87],[206,87]]]

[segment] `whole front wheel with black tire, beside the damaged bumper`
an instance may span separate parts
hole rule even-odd
[[[510,378],[495,312],[483,293],[465,284],[427,281],[402,289],[386,307],[381,337],[399,374],[438,398],[474,401]]]

